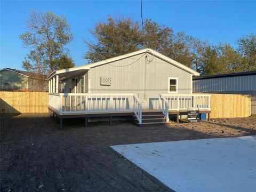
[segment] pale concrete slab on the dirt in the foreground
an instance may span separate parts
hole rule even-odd
[[[111,148],[175,191],[256,191],[256,136]]]

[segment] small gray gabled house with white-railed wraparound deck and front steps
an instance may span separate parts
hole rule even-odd
[[[60,118],[133,116],[140,125],[169,122],[188,108],[209,113],[210,95],[192,94],[197,71],[151,49],[49,75],[49,110]],[[150,119],[150,117],[152,117]],[[154,121],[154,119],[156,121]],[[164,123],[162,122],[162,123]]]

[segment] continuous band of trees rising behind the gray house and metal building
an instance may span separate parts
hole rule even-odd
[[[151,19],[140,23],[132,18],[108,16],[98,22],[90,33],[95,41],[85,41],[89,51],[84,58],[89,62],[150,48],[172,58],[203,75],[256,70],[256,36],[251,34],[237,40],[237,49],[227,43],[210,45],[207,41],[174,33],[172,28]]]

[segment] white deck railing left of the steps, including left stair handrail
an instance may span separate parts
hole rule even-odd
[[[142,121],[142,104],[132,93],[49,93],[49,106],[60,114],[133,111]]]

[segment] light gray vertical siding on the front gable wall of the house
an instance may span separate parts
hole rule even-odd
[[[111,85],[100,85],[101,76],[111,77]],[[168,77],[178,78],[178,94],[191,93],[190,73],[157,57],[146,63],[142,54],[91,68],[90,90],[91,93],[135,93],[143,108],[158,108],[159,93],[168,93]]]

